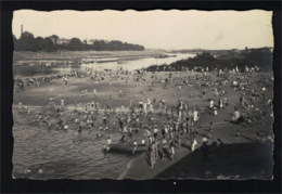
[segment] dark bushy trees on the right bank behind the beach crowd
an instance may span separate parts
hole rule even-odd
[[[244,70],[245,67],[259,67],[262,69],[272,68],[272,52],[269,48],[261,49],[249,49],[234,54],[232,51],[225,52],[215,56],[209,52],[203,52],[196,54],[194,57],[189,57],[187,60],[180,60],[170,65],[152,65],[148,67],[148,70],[164,70],[164,69],[174,69],[181,70],[183,68],[196,69],[196,67],[205,68],[213,70],[217,69],[232,69],[238,67],[241,70]],[[197,68],[200,70],[200,68]]]

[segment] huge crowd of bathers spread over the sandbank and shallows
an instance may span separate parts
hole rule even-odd
[[[113,87],[115,80],[136,81],[140,83],[150,82],[150,89],[154,87],[177,87],[177,92],[174,94],[174,104],[167,103],[165,98],[157,94],[155,96],[143,95],[138,101],[128,99],[128,104],[121,106],[114,102],[117,98],[126,95],[123,88],[118,94],[113,95],[110,92],[108,98],[103,99],[103,103],[99,102],[99,90],[97,88],[88,91],[81,90],[77,94],[78,98],[74,103],[67,104],[68,96],[50,95],[46,109],[52,109],[36,113],[31,115],[31,106],[20,102],[18,106],[23,113],[28,113],[27,116],[33,119],[33,124],[38,124],[40,127],[47,124],[49,130],[68,130],[73,129],[81,133],[84,130],[95,130],[97,138],[102,138],[103,133],[108,134],[104,145],[107,152],[111,151],[113,141],[112,133],[120,134],[120,142],[131,145],[132,154],[136,154],[138,146],[148,146],[148,152],[144,154],[149,157],[151,168],[157,163],[157,158],[165,160],[170,158],[174,160],[176,148],[188,147],[194,152],[200,146],[203,151],[203,160],[209,161],[207,145],[208,140],[213,137],[213,131],[216,124],[210,120],[208,125],[208,133],[201,138],[198,130],[201,126],[197,124],[201,120],[201,115],[209,113],[218,116],[221,109],[229,106],[234,107],[234,112],[230,117],[230,121],[239,121],[248,124],[262,118],[269,118],[272,114],[271,99],[266,99],[266,92],[270,89],[273,78],[271,74],[262,74],[259,70],[252,68],[245,73],[239,69],[217,69],[208,70],[198,68],[197,74],[190,74],[189,69],[180,72],[165,72],[166,74],[156,74],[155,72],[146,72],[139,69],[137,72],[118,70],[92,70],[87,68],[86,72],[74,72],[68,75],[43,76],[38,78],[17,78],[16,85],[20,90],[25,90],[26,87],[40,87],[41,85],[50,85],[54,79],[60,79],[62,89],[68,90],[72,85],[72,78],[89,77],[89,81],[105,81],[108,80],[108,87]],[[257,74],[257,83],[254,85],[248,79],[249,74]],[[132,79],[130,77],[132,76]],[[195,98],[191,91],[190,95],[182,96],[179,93],[184,90],[185,86],[195,86],[198,90],[198,98],[203,99],[203,103],[195,105],[190,103],[190,99]],[[238,103],[229,102],[229,94],[225,88],[231,87],[234,91],[241,93]],[[170,100],[171,101],[171,100]],[[258,106],[257,104],[264,104]],[[252,109],[259,113],[252,115]],[[49,113],[49,114],[48,114]],[[55,113],[55,114],[54,114]],[[222,120],[225,121],[225,120]],[[201,141],[198,139],[201,138]]]

